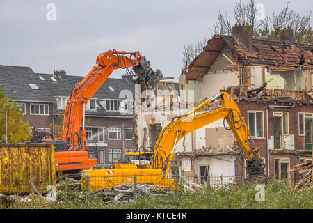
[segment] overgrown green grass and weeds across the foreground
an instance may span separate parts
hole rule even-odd
[[[136,201],[127,203],[105,203],[103,197],[96,192],[81,191],[77,186],[65,184],[58,191],[58,202],[32,203],[13,202],[7,208],[151,208],[151,209],[283,209],[313,208],[313,190],[297,192],[289,187],[287,181],[271,180],[264,185],[265,201],[256,201],[256,185],[239,186],[231,184],[218,189],[205,187],[199,192],[179,190],[172,194],[151,194],[138,197]],[[4,208],[4,207],[3,207]]]

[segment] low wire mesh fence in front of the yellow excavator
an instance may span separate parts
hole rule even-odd
[[[264,180],[262,176],[255,176],[257,180]],[[198,190],[202,187],[225,187],[230,183],[244,185],[248,183],[247,176],[84,176],[82,178],[83,189],[88,190],[129,190],[130,188],[145,187],[146,190],[175,191]]]

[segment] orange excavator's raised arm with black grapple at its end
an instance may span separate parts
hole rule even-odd
[[[127,54],[129,56],[125,56]],[[154,72],[150,68],[150,62],[146,61],[139,52],[118,52],[114,49],[99,54],[96,65],[81,82],[74,86],[67,98],[61,139],[67,140],[70,149],[77,150],[79,147],[85,149],[84,126],[81,130],[81,138],[79,137],[85,107],[113,70],[119,68],[134,68],[134,72],[138,74],[137,82],[141,82],[142,86],[153,87],[162,77],[159,70]]]

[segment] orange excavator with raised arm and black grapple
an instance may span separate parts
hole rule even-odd
[[[163,77],[160,70],[154,72],[150,68],[150,62],[139,52],[113,49],[99,54],[96,65],[74,86],[67,98],[61,137],[42,140],[47,144],[54,144],[56,148],[56,171],[76,172],[97,164],[97,159],[88,158],[86,150],[85,108],[113,70],[120,68],[137,76],[136,83],[141,84],[141,89],[152,89]]]

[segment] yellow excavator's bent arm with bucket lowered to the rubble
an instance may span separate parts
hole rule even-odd
[[[220,96],[221,107],[208,112],[195,114],[205,105],[209,105],[211,101]],[[170,165],[174,158],[175,146],[177,142],[186,134],[198,130],[199,128],[209,125],[214,121],[225,118],[230,129],[234,133],[236,140],[239,142],[243,154],[248,160],[248,175],[264,174],[264,164],[259,155],[259,148],[251,145],[251,133],[246,125],[240,110],[232,96],[227,92],[221,92],[214,98],[206,100],[191,112],[183,116],[173,118],[168,125],[160,132],[157,144],[154,146],[154,155],[152,159],[153,168],[163,169],[163,174],[167,176]]]

